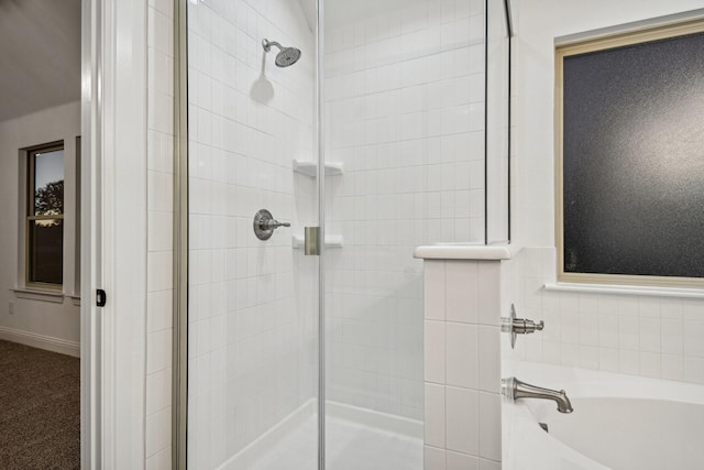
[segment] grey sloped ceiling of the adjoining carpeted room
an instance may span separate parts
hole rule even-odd
[[[80,0],[0,0],[0,121],[80,99]]]

